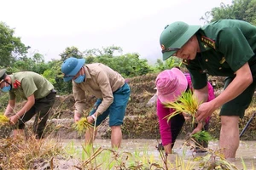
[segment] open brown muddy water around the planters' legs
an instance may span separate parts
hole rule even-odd
[[[77,146],[80,147],[81,144],[84,143],[83,139],[80,140],[64,140],[63,144],[68,144],[72,142]],[[183,155],[183,141],[182,139],[178,139],[174,145],[174,152],[168,157],[171,161],[175,160],[176,155]],[[96,139],[95,141],[96,146],[101,146],[103,148],[110,148],[110,140],[109,139]],[[154,155],[156,158],[160,158],[159,151],[155,148],[157,145],[156,139],[124,139],[122,140],[122,147],[121,150],[128,151],[133,153],[135,150],[137,151],[148,151],[148,155]],[[209,143],[209,148],[212,150],[218,149],[218,141],[211,141]],[[185,151],[185,159],[189,159],[192,157],[192,151],[187,150]],[[195,154],[194,154],[195,155]],[[195,156],[202,156],[200,154]],[[242,161],[245,162],[247,169],[256,169],[256,141],[240,141],[239,149],[236,153],[236,159],[231,160],[232,163],[238,167],[238,169],[243,169]]]

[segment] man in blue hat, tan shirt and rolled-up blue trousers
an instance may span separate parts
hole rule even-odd
[[[107,65],[101,63],[84,65],[84,63],[85,59],[70,57],[61,65],[64,82],[73,81],[74,121],[78,122],[83,115],[86,105],[85,92],[94,94],[97,98],[96,104],[87,120],[90,123],[96,121],[96,126],[99,126],[109,116],[111,145],[113,148],[119,148],[122,140],[121,125],[130,98],[130,87],[125,82],[125,78]],[[93,130],[90,128],[86,131],[86,144],[93,142],[93,137],[96,136]]]

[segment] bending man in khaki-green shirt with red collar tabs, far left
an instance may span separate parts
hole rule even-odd
[[[53,85],[38,73],[32,71],[16,72],[7,75],[6,70],[0,70],[0,88],[2,92],[9,92],[9,104],[4,112],[10,122],[17,124],[14,137],[24,133],[25,122],[36,115],[33,132],[37,139],[42,139],[44,128],[49,116],[49,110],[55,103],[56,92]],[[14,113],[15,99],[26,99],[26,104]]]

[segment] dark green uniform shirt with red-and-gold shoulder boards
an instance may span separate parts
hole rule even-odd
[[[195,89],[207,85],[207,74],[232,77],[247,62],[253,64],[256,52],[256,26],[241,20],[218,20],[196,33],[201,53],[183,59]]]

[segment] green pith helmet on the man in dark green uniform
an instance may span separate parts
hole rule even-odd
[[[189,41],[201,26],[189,26],[188,24],[177,21],[165,27],[160,35],[160,46],[162,48],[163,60],[168,59],[177,49]]]

